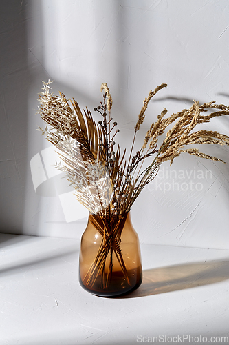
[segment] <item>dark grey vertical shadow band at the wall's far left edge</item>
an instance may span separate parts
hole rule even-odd
[[[19,0],[0,3],[1,225],[20,233],[25,211],[28,88],[27,22]]]

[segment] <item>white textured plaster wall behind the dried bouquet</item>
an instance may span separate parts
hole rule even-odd
[[[131,144],[144,97],[168,83],[149,105],[135,150],[163,107],[171,114],[193,99],[228,103],[228,0],[3,0],[0,6],[3,233],[79,238],[87,222],[54,175],[50,144],[36,132],[41,80],[54,80],[55,92],[91,110],[106,81],[122,148]],[[206,129],[229,135],[228,125],[229,118],[214,119]],[[202,150],[229,164],[228,148]],[[162,166],[135,202],[132,220],[144,243],[229,248],[228,208],[229,165],[182,155],[171,168]]]

